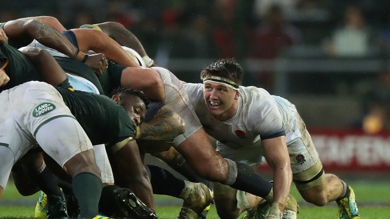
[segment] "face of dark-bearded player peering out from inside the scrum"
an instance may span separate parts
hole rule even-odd
[[[136,126],[139,126],[144,121],[146,105],[141,98],[135,95],[123,97],[122,106],[126,110],[128,117],[133,120]]]

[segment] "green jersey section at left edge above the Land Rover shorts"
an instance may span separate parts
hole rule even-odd
[[[35,65],[23,53],[10,45],[0,44],[0,65],[10,77],[8,84],[0,87],[0,91],[28,81],[41,81]]]

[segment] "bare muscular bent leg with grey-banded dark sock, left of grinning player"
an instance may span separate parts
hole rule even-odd
[[[192,169],[205,179],[263,198],[272,189],[271,182],[257,174],[250,166],[223,159],[212,147],[203,128],[187,137],[177,150]]]

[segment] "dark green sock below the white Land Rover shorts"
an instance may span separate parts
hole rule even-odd
[[[72,180],[73,192],[79,201],[81,217],[92,217],[99,213],[102,180],[90,172],[82,172]]]

